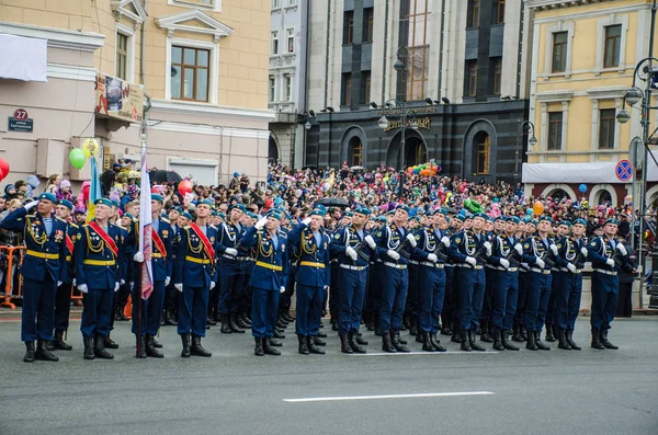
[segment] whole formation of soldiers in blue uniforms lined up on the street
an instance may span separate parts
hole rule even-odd
[[[574,341],[582,271],[591,262],[591,347],[617,348],[609,339],[619,295],[617,272],[635,273],[619,221],[609,218],[589,240],[582,219],[553,222],[484,213],[451,215],[434,207],[409,219],[398,205],[374,217],[367,207],[343,213],[342,225],[324,228],[321,205],[299,222],[286,210],[264,216],[232,204],[220,216],[202,199],[195,216],[179,207],[167,214],[163,197],[151,196],[152,289],[140,293],[138,205],[117,225],[117,206],[94,203],[87,224],[71,219],[73,205],[50,193],[10,213],[0,227],[23,233],[21,340],[25,362],[58,360],[71,351],[71,288],[83,295],[80,331],[86,359],[112,359],[115,319],[125,319],[127,296],[140,301],[132,332],[137,357],[161,358],[156,337],[177,324],[181,356],[209,357],[201,343],[209,327],[222,333],[251,329],[254,355],[280,355],[285,327],[295,322],[298,353],[325,354],[322,318],[329,307],[340,351],[366,353],[360,332],[382,337],[382,351],[410,352],[409,331],[426,352],[445,352],[439,335],[464,352],[581,347]],[[136,284],[137,283],[137,284]],[[291,297],[296,294],[295,316]]]

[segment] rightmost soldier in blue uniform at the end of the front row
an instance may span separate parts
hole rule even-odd
[[[603,236],[592,238],[588,245],[589,259],[592,262],[592,343],[593,348],[619,348],[608,341],[610,323],[616,312],[620,283],[617,272],[628,263],[628,252],[624,244],[615,239],[620,222],[606,219],[603,224]],[[619,262],[615,262],[615,257]]]

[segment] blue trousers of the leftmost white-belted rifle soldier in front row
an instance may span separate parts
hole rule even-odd
[[[366,282],[367,268],[364,271],[340,268],[337,285],[339,291],[338,325],[341,332],[359,331]]]

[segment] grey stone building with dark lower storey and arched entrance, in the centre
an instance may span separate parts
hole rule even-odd
[[[328,0],[309,15],[306,165],[433,159],[443,174],[519,181],[532,41],[521,0]],[[402,161],[401,114],[419,127],[405,128]]]

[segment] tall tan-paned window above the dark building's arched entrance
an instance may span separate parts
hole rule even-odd
[[[418,101],[427,95],[430,77],[430,32],[431,11],[429,0],[408,0],[401,23],[402,34],[407,37],[409,51],[408,71],[406,71],[406,99]]]

